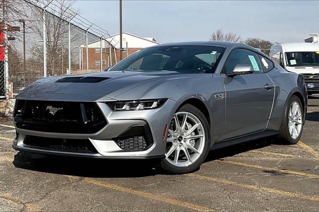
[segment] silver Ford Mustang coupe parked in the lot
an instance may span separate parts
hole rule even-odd
[[[212,149],[272,135],[296,144],[307,111],[303,75],[228,42],[145,48],[107,72],[38,80],[16,99],[16,150],[160,158],[176,174]]]

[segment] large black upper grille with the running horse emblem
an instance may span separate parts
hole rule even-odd
[[[96,133],[106,120],[96,103],[17,100],[18,128],[57,133]]]

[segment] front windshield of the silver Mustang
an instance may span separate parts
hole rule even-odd
[[[213,73],[224,50],[219,46],[155,46],[130,55],[110,71]]]

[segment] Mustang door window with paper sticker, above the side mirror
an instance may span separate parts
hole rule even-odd
[[[259,55],[247,49],[236,49],[230,53],[225,63],[226,74],[233,73],[237,64],[249,65],[254,70],[254,73],[263,73]]]

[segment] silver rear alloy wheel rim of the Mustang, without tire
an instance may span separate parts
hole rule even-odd
[[[293,139],[298,138],[303,127],[302,109],[297,101],[294,101],[289,109],[288,127]]]

